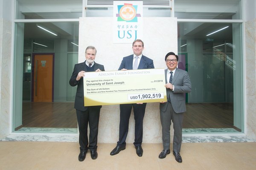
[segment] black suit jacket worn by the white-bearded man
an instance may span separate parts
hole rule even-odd
[[[94,62],[94,71],[96,71],[98,68],[101,71],[105,71],[103,65],[100,65],[100,64],[97,64],[96,62]],[[76,86],[77,85],[76,99],[75,99],[75,109],[77,109],[79,111],[86,111],[88,107],[84,107],[84,79],[81,78],[79,81],[76,81],[77,74],[80,71],[85,71],[85,72],[87,71],[85,61],[75,65],[74,71],[73,71],[73,74],[70,78],[69,83],[70,83],[71,86]],[[99,106],[99,107],[102,107],[102,106]]]

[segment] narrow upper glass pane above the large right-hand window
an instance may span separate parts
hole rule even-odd
[[[241,0],[175,0],[178,19],[239,20]]]

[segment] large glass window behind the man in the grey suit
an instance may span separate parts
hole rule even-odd
[[[192,83],[183,128],[243,132],[241,23],[178,22],[178,29],[179,56],[187,58]]]

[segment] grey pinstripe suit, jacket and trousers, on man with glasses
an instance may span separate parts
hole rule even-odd
[[[165,70],[165,75],[167,74],[167,70]],[[167,82],[169,80],[166,80]],[[172,121],[174,128],[173,151],[179,153],[182,142],[183,115],[186,111],[184,93],[191,91],[191,82],[188,73],[176,68],[172,85],[174,85],[174,91],[166,88],[167,102],[160,103],[163,149],[170,149],[170,126]]]

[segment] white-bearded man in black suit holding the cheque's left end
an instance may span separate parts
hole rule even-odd
[[[70,78],[70,85],[76,86],[75,109],[79,127],[79,144],[80,154],[79,161],[84,161],[87,150],[90,149],[91,158],[96,159],[97,153],[97,137],[99,127],[99,112],[102,106],[84,106],[84,74],[88,71],[105,71],[104,66],[94,62],[96,57],[96,48],[88,46],[85,50],[85,61],[76,64],[73,74]],[[90,127],[89,143],[87,136],[88,123]],[[89,146],[88,146],[89,144]]]

